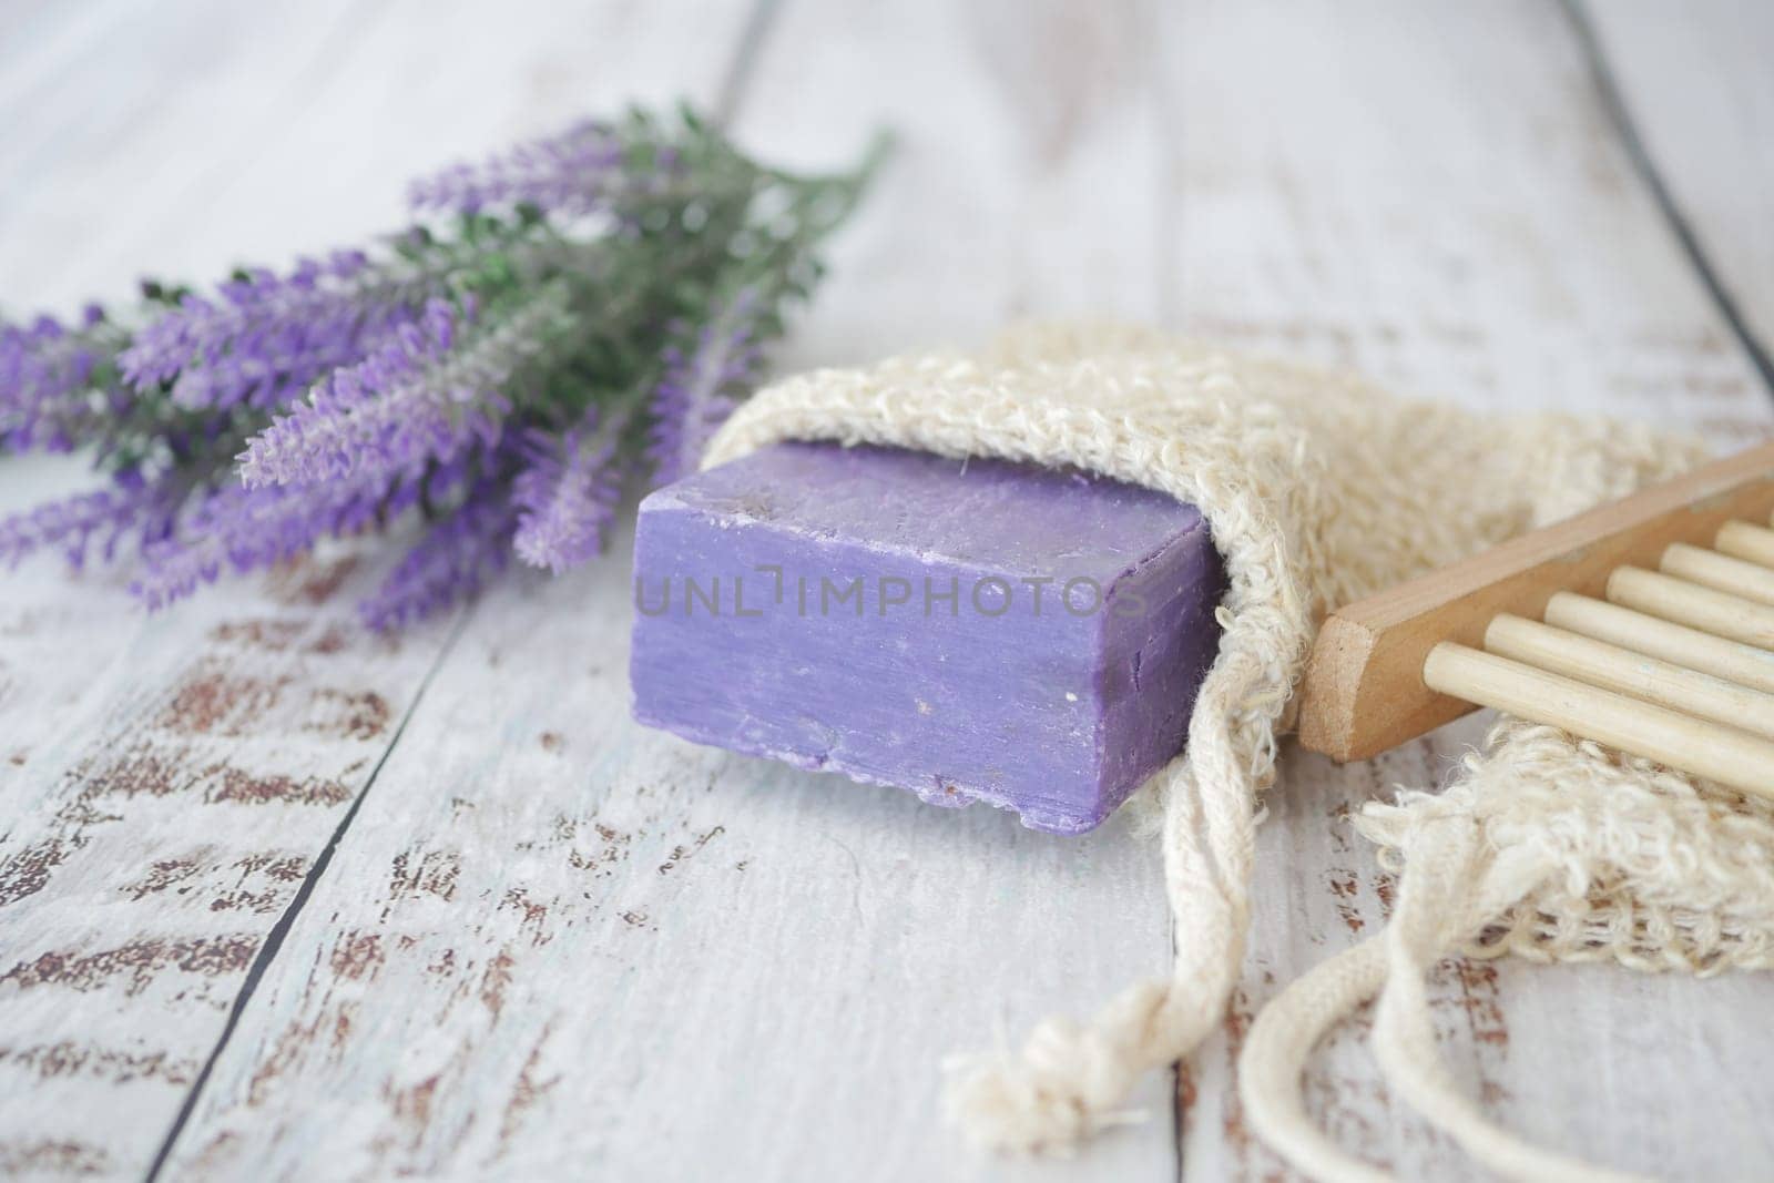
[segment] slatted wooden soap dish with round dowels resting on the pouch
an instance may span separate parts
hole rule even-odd
[[[1300,743],[1366,759],[1492,706],[1774,796],[1770,514],[1774,443],[1352,603]]]

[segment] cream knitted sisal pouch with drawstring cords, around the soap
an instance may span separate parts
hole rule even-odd
[[[789,378],[743,404],[704,463],[779,440],[1077,465],[1197,505],[1226,559],[1224,635],[1189,745],[1148,786],[1171,975],[1086,1023],[1045,1020],[1020,1055],[969,1057],[951,1077],[963,1132],[1022,1151],[1125,1121],[1139,1077],[1219,1023],[1244,958],[1261,793],[1325,612],[1701,459],[1644,427],[1481,417],[1116,326]],[[1320,1178],[1382,1178],[1300,1101],[1313,1045],[1375,995],[1373,1048],[1396,1096],[1504,1174],[1586,1171],[1490,1126],[1440,1069],[1425,974],[1442,956],[1712,974],[1774,952],[1774,814],[1558,731],[1504,720],[1446,791],[1373,803],[1357,825],[1400,873],[1391,924],[1276,999],[1240,1061],[1258,1132]]]

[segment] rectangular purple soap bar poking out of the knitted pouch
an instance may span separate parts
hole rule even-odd
[[[1224,592],[1162,493],[781,443],[640,504],[635,718],[1077,834],[1181,750]]]

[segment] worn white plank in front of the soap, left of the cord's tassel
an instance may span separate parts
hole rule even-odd
[[[937,1055],[1162,940],[1121,825],[1056,839],[635,727],[614,557],[483,603],[172,1174],[958,1174]],[[1169,1171],[1162,1114],[1157,1140],[1105,1162]]]

